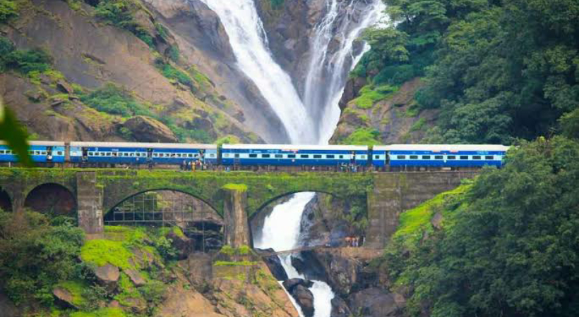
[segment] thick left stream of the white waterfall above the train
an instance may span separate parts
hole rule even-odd
[[[253,0],[201,0],[225,27],[239,68],[258,87],[292,143],[315,144],[314,124],[290,75],[275,63]]]

